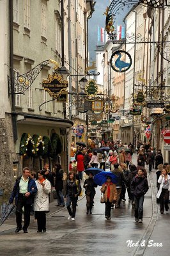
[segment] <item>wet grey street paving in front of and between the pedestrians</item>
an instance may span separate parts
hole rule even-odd
[[[100,204],[100,187],[95,196],[93,214],[86,214],[86,198],[78,202],[75,221],[69,221],[66,208],[50,204],[47,232],[37,234],[31,216],[29,233],[15,234],[15,218],[0,227],[1,255],[169,255],[169,213],[160,214],[155,199],[155,170],[150,173],[150,189],[144,199],[143,223],[135,223],[134,209],[128,198],[120,209],[112,209],[105,220]],[[3,231],[4,229],[4,231]],[[6,229],[6,230],[5,230]],[[9,244],[10,241],[10,244]],[[134,243],[134,244],[132,244]],[[158,243],[155,245],[155,243]],[[161,244],[162,243],[162,246]],[[150,247],[149,247],[150,246]]]

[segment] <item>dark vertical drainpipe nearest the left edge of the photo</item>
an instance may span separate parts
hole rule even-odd
[[[10,5],[10,77],[12,86],[12,127],[13,127],[13,141],[16,142],[17,136],[17,118],[13,113],[15,112],[15,92],[14,90],[14,80],[13,80],[13,0],[9,1]]]

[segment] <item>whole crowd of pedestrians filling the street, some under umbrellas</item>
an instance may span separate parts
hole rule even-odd
[[[135,151],[137,165],[132,163],[132,155]],[[70,161],[68,174],[59,163],[54,165],[54,172],[49,169],[48,163],[45,163],[43,170],[38,173],[30,172],[27,167],[23,168],[22,176],[16,180],[9,201],[12,204],[15,198],[16,233],[20,230],[27,233],[31,211],[35,213],[37,232],[46,232],[46,212],[49,211],[52,191],[56,191],[58,198],[56,206],[65,207],[66,205],[68,220],[74,221],[78,196],[82,195],[83,187],[86,195],[86,214],[91,214],[97,183],[93,179],[93,172],[89,172],[86,177],[83,175],[84,170],[88,168],[100,168],[100,170],[111,172],[116,177],[116,182],[112,182],[112,175],[106,174],[101,188],[107,220],[111,219],[111,209],[120,208],[121,202],[126,201],[127,193],[128,202],[131,202],[134,208],[135,221],[143,222],[144,195],[149,189],[146,165],[149,173],[153,168],[157,170],[157,202],[160,203],[160,213],[163,214],[164,210],[168,211],[170,165],[163,164],[161,151],[156,152],[150,143],[138,143],[137,148],[134,148],[132,143],[127,145],[121,141],[98,141],[98,143],[91,141],[88,148],[77,146],[72,153],[74,159]],[[81,187],[83,177],[85,177],[84,184]],[[63,193],[64,183],[65,193]],[[24,225],[22,227],[23,209]]]

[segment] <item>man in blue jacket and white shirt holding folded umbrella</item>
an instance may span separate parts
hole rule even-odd
[[[37,192],[35,180],[29,177],[30,169],[28,167],[23,168],[23,175],[20,176],[13,187],[12,194],[10,196],[9,203],[12,204],[15,198],[16,204],[16,222],[17,228],[15,233],[23,230],[27,233],[27,227],[30,222],[31,204],[33,204],[34,195]],[[22,227],[22,207],[24,207],[24,227]]]

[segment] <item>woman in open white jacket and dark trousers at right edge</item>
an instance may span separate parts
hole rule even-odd
[[[157,198],[160,199],[160,213],[164,213],[164,205],[168,211],[169,191],[170,191],[170,176],[167,174],[166,169],[162,169],[162,173],[158,178],[160,187],[158,189]]]

